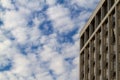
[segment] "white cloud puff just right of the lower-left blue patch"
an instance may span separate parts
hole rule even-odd
[[[25,56],[19,53],[14,55],[13,63],[12,73],[19,74],[20,76],[27,76],[30,74],[30,61]]]

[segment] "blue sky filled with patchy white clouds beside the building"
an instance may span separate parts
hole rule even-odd
[[[99,0],[0,0],[0,80],[78,80],[79,34]]]

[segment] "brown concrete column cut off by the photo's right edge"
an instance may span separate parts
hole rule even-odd
[[[116,51],[117,51],[117,57],[116,57],[116,61],[117,61],[117,80],[120,80],[120,2],[118,3],[118,5],[115,7],[115,22],[116,22]]]

